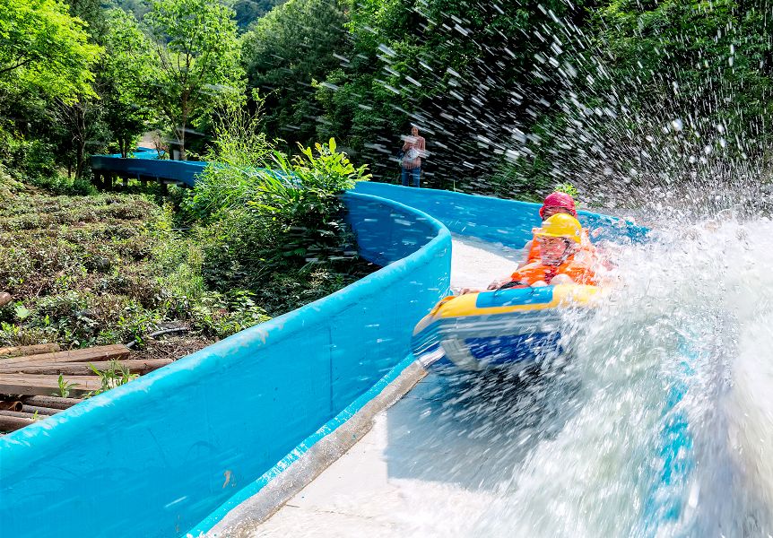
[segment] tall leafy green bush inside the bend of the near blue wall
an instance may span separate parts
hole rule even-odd
[[[356,168],[332,139],[289,157],[240,109],[224,114],[216,133],[211,165],[185,205],[199,223],[192,237],[207,286],[249,290],[273,315],[372,270],[357,260],[340,198],[369,178],[365,166]]]

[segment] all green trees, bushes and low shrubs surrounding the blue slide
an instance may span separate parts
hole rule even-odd
[[[612,205],[769,181],[764,1],[0,7],[6,344],[142,346],[184,322],[200,346],[356,280],[373,268],[342,254],[336,194],[398,182],[412,126],[423,187],[537,200],[570,184]],[[98,193],[91,155],[141,140],[227,166],[191,191]]]

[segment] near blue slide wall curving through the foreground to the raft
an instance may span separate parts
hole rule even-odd
[[[185,534],[406,364],[447,291],[450,235],[402,204],[345,200],[361,255],[386,267],[0,438],[0,535]]]

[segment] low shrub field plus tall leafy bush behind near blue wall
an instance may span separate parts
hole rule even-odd
[[[334,140],[288,157],[255,127],[239,108],[222,116],[187,233],[143,195],[54,195],[0,174],[0,288],[16,299],[0,345],[143,345],[169,324],[217,339],[372,271],[340,198],[366,167]]]

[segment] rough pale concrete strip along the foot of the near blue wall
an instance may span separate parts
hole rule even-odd
[[[365,437],[379,412],[397,403],[426,375],[427,370],[421,367],[418,360],[414,361],[352,418],[317,441],[262,490],[233,508],[213,526],[206,537],[248,538],[254,535],[259,525]]]

